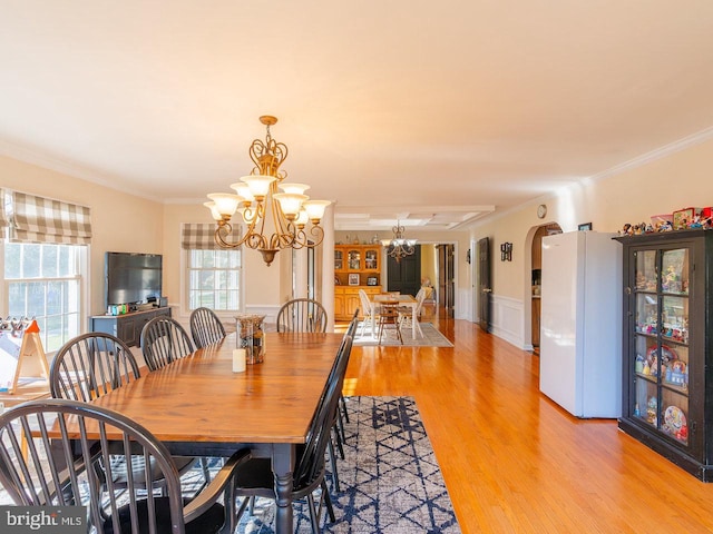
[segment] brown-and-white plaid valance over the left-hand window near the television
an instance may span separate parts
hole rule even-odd
[[[91,214],[86,206],[13,191],[12,211],[12,241],[61,245],[91,241]]]

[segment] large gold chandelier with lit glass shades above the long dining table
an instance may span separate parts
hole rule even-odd
[[[277,122],[275,117],[265,115],[260,121],[267,128],[267,136],[265,141],[255,139],[250,146],[255,167],[248,176],[231,185],[236,194],[212,192],[211,201],[204,206],[217,222],[215,241],[219,247],[245,245],[258,250],[270,266],[280,250],[316,247],[322,243],[324,229],[320,221],[331,202],[310,200],[304,195],[310,186],[304,184],[283,184],[287,174],[280,171],[280,166],[287,158],[287,146],[270,135],[270,127]],[[282,192],[277,192],[277,188]],[[236,211],[247,230],[240,239],[229,240],[231,218]]]

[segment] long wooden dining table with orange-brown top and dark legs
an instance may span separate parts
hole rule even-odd
[[[146,373],[94,404],[148,428],[175,455],[270,457],[275,532],[291,533],[295,447],[303,444],[342,334],[266,334],[264,362],[233,373],[235,335]]]

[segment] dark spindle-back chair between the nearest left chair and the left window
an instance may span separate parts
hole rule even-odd
[[[77,336],[60,347],[50,367],[49,387],[55,398],[90,403],[139,377],[136,358],[121,339],[110,334],[92,332]],[[174,464],[183,476],[194,468],[197,458],[176,456]],[[202,458],[201,464],[207,482],[209,479],[207,462]],[[111,457],[111,465],[115,486],[128,484],[129,473],[127,473],[126,459],[118,451]],[[106,476],[104,465],[97,465],[96,469],[97,473]],[[123,474],[119,476],[120,469]],[[135,471],[134,478],[135,481],[143,478],[143,473]],[[163,484],[160,477],[154,476],[154,479],[158,485]]]

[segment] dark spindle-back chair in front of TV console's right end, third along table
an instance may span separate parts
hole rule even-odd
[[[192,354],[195,348],[180,324],[172,317],[154,317],[141,330],[141,350],[150,370]]]

